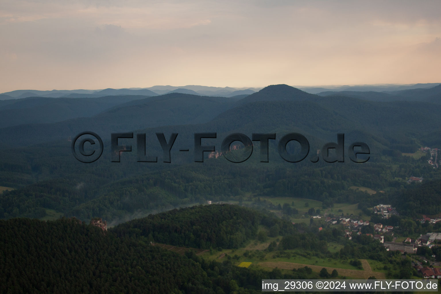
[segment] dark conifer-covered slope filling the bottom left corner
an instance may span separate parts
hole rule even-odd
[[[191,259],[73,219],[0,227],[1,293],[214,293]]]

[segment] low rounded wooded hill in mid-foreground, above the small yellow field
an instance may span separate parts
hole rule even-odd
[[[278,225],[284,234],[293,232],[291,223],[236,205],[206,205],[173,209],[113,228],[118,236],[148,237],[175,246],[208,249],[239,248],[258,232],[258,226]]]

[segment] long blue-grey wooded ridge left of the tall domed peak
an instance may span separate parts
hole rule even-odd
[[[52,124],[34,123],[1,128],[0,134],[4,132],[3,134],[7,134],[8,137],[2,143],[14,144],[12,140],[18,139],[16,143],[19,145],[30,145],[62,140],[75,136],[82,130],[96,130],[102,134],[110,134],[146,127],[205,123],[226,109],[232,108],[236,101],[234,98],[203,97],[182,93],[156,97],[124,97],[136,98],[136,100],[131,99],[132,101],[127,104],[113,107],[93,117],[78,117]]]

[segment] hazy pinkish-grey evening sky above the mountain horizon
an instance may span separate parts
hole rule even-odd
[[[441,1],[1,0],[0,92],[441,82]]]

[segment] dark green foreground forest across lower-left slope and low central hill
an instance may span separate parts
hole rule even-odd
[[[197,219],[203,221],[196,223]],[[202,249],[208,245],[242,246],[243,242],[256,238],[258,224],[280,226],[280,234],[284,236],[275,249],[282,250],[277,251],[282,256],[287,254],[283,250],[302,248],[329,257],[396,263],[394,253],[386,252],[379,242],[366,236],[348,242],[340,252],[330,253],[327,242],[344,240],[342,231],[334,228],[314,233],[314,228],[293,227],[268,212],[236,205],[172,210],[123,223],[108,231],[76,218],[54,221],[14,218],[0,220],[0,291],[258,293],[262,279],[318,278],[307,267],[290,273],[277,268],[272,271],[240,268],[232,264],[230,257],[222,262],[209,261],[192,250],[179,255],[153,246],[154,242]],[[244,235],[239,236],[235,226],[241,227]],[[299,229],[306,232],[300,233]],[[194,239],[204,240],[204,235],[206,243],[194,242]],[[402,277],[411,274],[409,264],[403,263],[401,267],[405,269]]]

